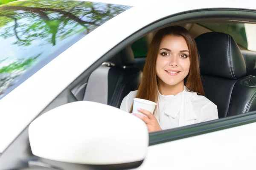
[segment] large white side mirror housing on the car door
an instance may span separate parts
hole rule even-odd
[[[148,129],[137,117],[96,102],[71,102],[29,125],[35,156],[75,164],[140,166],[148,147]]]

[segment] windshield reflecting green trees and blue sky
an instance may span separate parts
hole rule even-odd
[[[73,0],[48,2],[0,5],[0,99],[29,78],[24,78],[28,70],[38,71],[95,28],[131,8]]]

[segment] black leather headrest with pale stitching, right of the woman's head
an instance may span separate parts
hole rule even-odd
[[[241,51],[233,37],[221,32],[207,32],[195,38],[201,57],[201,73],[239,79],[246,75]]]

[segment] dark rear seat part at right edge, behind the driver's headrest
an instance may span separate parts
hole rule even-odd
[[[246,65],[246,75],[256,76],[256,52],[241,50],[241,53],[243,54]]]

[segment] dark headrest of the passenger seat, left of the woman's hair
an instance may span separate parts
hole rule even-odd
[[[112,57],[108,62],[115,65],[126,65],[132,66],[135,63],[134,54],[130,46],[119,51],[114,57]]]

